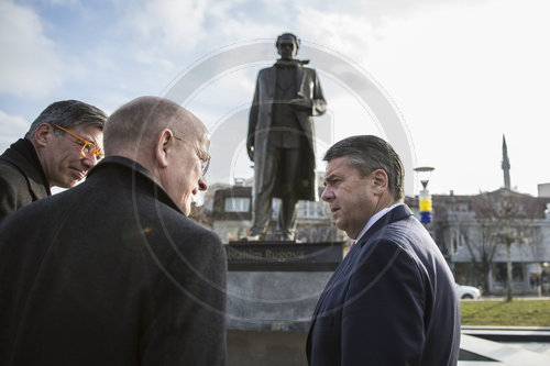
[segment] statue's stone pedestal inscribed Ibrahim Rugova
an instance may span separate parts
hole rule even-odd
[[[309,321],[342,260],[342,244],[230,242],[226,246],[229,366],[294,365],[295,359],[306,364]]]

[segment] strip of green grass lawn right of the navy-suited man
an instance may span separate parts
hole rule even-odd
[[[550,326],[550,300],[460,302],[462,325]]]

